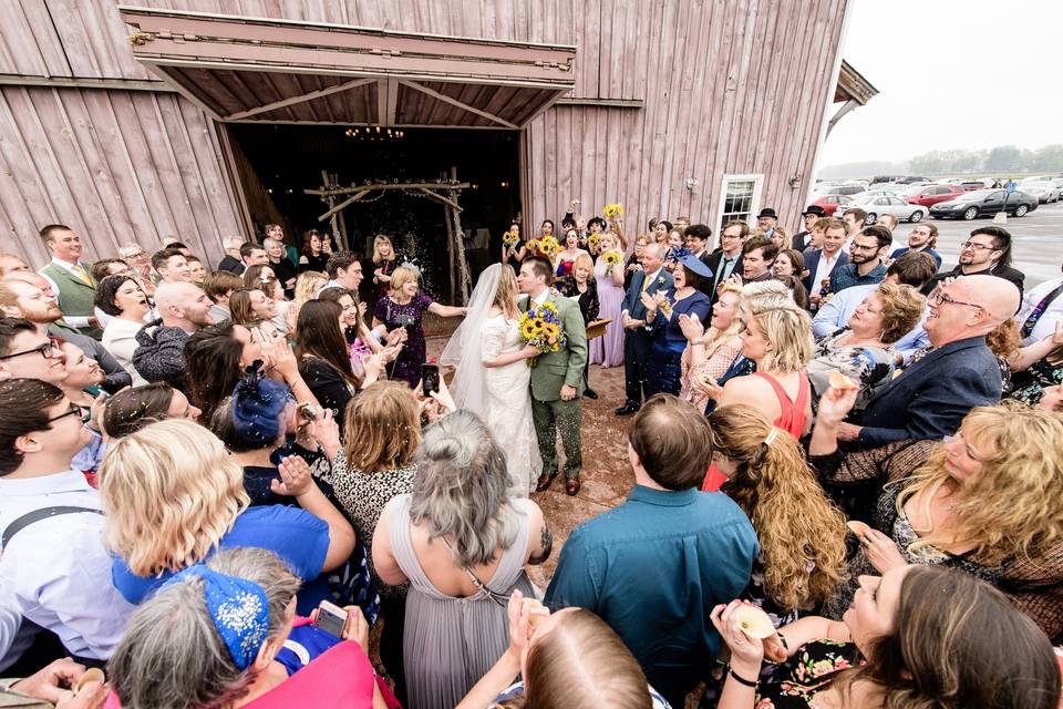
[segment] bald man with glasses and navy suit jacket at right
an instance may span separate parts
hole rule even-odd
[[[838,424],[840,441],[875,448],[894,441],[940,439],[957,431],[974,407],[1000,401],[1000,364],[985,336],[1012,317],[1020,292],[993,276],[942,281],[923,322],[931,349],[884,386],[859,425]]]

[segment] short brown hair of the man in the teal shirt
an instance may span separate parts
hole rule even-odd
[[[639,410],[628,441],[658,485],[680,491],[696,487],[712,463],[709,421],[692,404],[672,394],[656,394]]]

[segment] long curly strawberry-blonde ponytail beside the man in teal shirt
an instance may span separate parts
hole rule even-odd
[[[746,595],[775,620],[794,620],[845,579],[845,516],[816,481],[801,444],[746,404],[709,415],[723,486],[753,523],[761,556]]]

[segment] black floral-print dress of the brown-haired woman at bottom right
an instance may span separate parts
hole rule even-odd
[[[754,709],[815,708],[816,693],[847,669],[864,665],[865,660],[853,643],[815,640],[801,646],[785,662],[775,667],[756,689]]]

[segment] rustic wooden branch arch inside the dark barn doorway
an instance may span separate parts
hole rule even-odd
[[[365,198],[373,192],[402,191],[406,193],[420,193],[425,197],[437,202],[445,214],[446,223],[446,254],[450,260],[451,270],[451,292],[454,297],[461,294],[461,301],[468,302],[468,292],[472,287],[472,278],[468,273],[468,261],[465,259],[465,240],[462,232],[462,207],[457,199],[463,189],[468,189],[469,184],[457,181],[457,169],[451,168],[451,176],[447,179],[437,179],[435,182],[374,182],[361,185],[341,186],[336,175],[327,172],[321,173],[323,184],[316,189],[303,189],[305,194],[316,195],[324,202],[329,209],[318,217],[318,222],[329,222],[332,227],[332,234],[337,235],[343,248],[350,248],[347,237],[347,225],[343,220],[343,209],[352,204]]]

